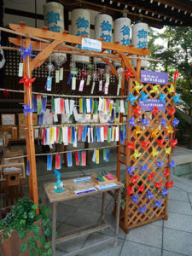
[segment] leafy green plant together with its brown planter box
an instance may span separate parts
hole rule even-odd
[[[33,201],[22,198],[1,220],[3,256],[52,254],[51,243],[46,239],[51,235],[49,208],[39,206],[39,215],[37,208]]]

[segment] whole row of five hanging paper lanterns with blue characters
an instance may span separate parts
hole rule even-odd
[[[44,5],[44,22],[48,29],[54,32],[64,31],[64,8],[61,3],[50,2]],[[73,9],[71,13],[71,33],[73,35],[82,36],[86,35],[90,38],[90,12],[87,9]],[[113,34],[112,34],[113,27]],[[132,30],[132,31],[131,31]],[[132,33],[131,33],[132,32]],[[132,34],[132,38],[130,37]],[[113,37],[113,39],[112,39]],[[131,20],[127,17],[121,17],[114,20],[110,15],[99,14],[95,18],[95,37],[94,39],[104,38],[104,41],[109,43],[119,42],[129,46],[134,44],[134,47],[143,49],[147,48],[148,44],[148,24],[139,22],[131,27]],[[58,55],[52,55],[52,61],[58,58]],[[62,61],[66,59],[66,55],[61,55]],[[74,61],[84,64],[90,62],[89,56],[74,55]],[[100,58],[96,58],[96,64],[103,63]],[[118,63],[114,63],[115,66]],[[137,61],[133,60],[134,67],[137,65]],[[142,61],[142,67],[147,66],[147,61]]]

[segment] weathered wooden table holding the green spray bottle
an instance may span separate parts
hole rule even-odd
[[[92,180],[85,181],[81,183],[74,183],[73,179],[64,180],[63,184],[65,186],[65,189],[62,193],[55,193],[54,191],[54,184],[55,183],[44,183],[44,189],[46,192],[46,195],[48,196],[49,203],[53,204],[53,225],[52,225],[52,249],[53,249],[53,255],[55,256],[55,245],[58,243],[61,243],[63,241],[68,241],[73,238],[84,236],[86,234],[90,234],[93,232],[96,232],[98,230],[103,230],[105,228],[113,228],[106,222],[104,219],[105,215],[105,202],[106,202],[106,193],[112,194],[114,190],[116,190],[117,193],[113,193],[113,196],[116,198],[117,207],[116,207],[116,226],[114,232],[114,236],[109,237],[107,239],[102,239],[102,241],[98,241],[94,244],[91,244],[90,246],[83,247],[79,250],[73,251],[72,253],[67,253],[65,255],[77,255],[79,253],[84,253],[85,251],[89,250],[90,248],[94,247],[100,247],[103,244],[106,244],[108,242],[113,241],[114,246],[117,247],[117,241],[118,241],[118,233],[119,233],[119,209],[120,209],[120,195],[121,195],[121,189],[123,189],[124,184],[120,182],[116,182],[116,187],[108,188],[99,190],[96,187],[96,183],[94,183]],[[95,188],[96,191],[82,194],[82,195],[76,195],[74,191],[76,190],[83,190],[83,189],[90,189]],[[81,227],[78,230],[73,230],[71,232],[67,232],[64,234],[61,234],[61,236],[58,236],[58,238],[55,238],[55,232],[56,232],[56,210],[57,205],[61,201],[68,201],[72,199],[77,199],[80,197],[88,196],[88,195],[96,195],[102,193],[102,212],[101,217],[98,219],[96,224],[91,224],[90,226]]]

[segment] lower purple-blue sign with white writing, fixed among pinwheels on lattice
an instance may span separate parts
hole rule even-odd
[[[139,100],[139,106],[141,106],[142,111],[153,111],[154,106],[160,111],[166,111],[166,101],[161,102],[160,99]]]

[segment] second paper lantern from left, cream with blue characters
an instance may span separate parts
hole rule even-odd
[[[90,12],[87,9],[73,9],[72,11],[72,34],[74,36],[86,35],[90,37]],[[78,45],[80,48],[80,45]],[[89,56],[74,55],[74,61],[88,64]]]

